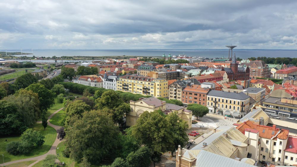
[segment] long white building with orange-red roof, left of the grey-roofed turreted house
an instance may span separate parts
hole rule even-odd
[[[97,88],[103,88],[103,79],[97,75],[82,75],[79,78],[73,79],[73,83],[82,85],[94,86]]]

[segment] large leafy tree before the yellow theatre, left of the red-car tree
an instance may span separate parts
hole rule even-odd
[[[143,112],[134,125],[132,136],[152,150],[151,160],[154,164],[161,161],[163,152],[172,149],[174,140],[169,129],[170,123],[157,111]]]

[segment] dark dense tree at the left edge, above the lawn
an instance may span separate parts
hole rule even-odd
[[[22,133],[26,126],[17,110],[17,106],[6,100],[0,100],[0,135]]]

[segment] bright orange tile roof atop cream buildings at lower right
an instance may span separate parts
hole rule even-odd
[[[270,126],[264,126],[264,125],[257,125],[253,124],[252,121],[247,120],[243,123],[241,123],[236,129],[241,131],[241,133],[244,133],[245,129],[255,129],[259,131],[259,136],[266,138],[266,139],[271,139],[273,136],[275,136],[279,132],[279,128],[273,128]],[[265,131],[264,131],[265,130]],[[274,132],[272,134],[272,132]],[[277,135],[277,138],[279,139],[287,139],[289,136],[289,130],[282,129],[281,133]]]

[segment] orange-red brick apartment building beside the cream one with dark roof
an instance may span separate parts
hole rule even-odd
[[[201,104],[206,106],[207,93],[214,89],[214,83],[204,82],[200,85],[188,84],[182,90],[182,101],[184,104]]]

